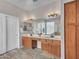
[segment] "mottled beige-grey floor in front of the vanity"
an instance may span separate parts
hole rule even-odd
[[[42,52],[40,49],[14,49],[3,55],[0,55],[0,59],[60,59],[55,56],[49,56]]]

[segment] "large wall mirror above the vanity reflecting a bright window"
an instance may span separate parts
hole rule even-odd
[[[32,23],[33,34],[53,35],[60,32],[60,17],[44,20],[34,20]]]

